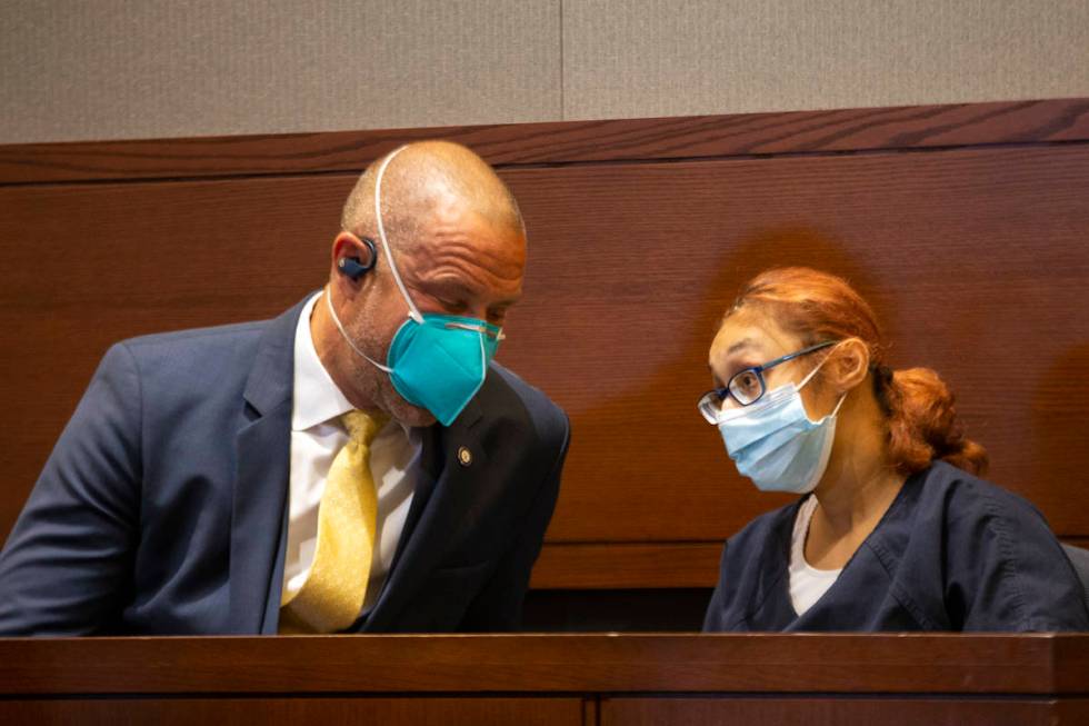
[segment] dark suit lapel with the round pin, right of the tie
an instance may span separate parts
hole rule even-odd
[[[460,529],[474,500],[480,475],[487,470],[487,454],[472,430],[480,416],[480,407],[473,399],[449,428],[436,425],[424,434],[420,480],[408,521],[386,587],[370,616],[359,624],[362,629],[388,629],[396,614],[448,551],[447,543]]]

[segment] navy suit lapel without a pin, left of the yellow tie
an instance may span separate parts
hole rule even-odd
[[[243,394],[246,411],[236,437],[231,510],[231,633],[276,631],[276,621],[268,621],[267,606],[273,593],[279,597],[279,586],[270,580],[284,546],[294,329],[302,305],[269,324]]]

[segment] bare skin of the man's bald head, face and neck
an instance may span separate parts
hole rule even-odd
[[[362,272],[376,237],[374,185],[382,162],[381,222],[389,256]],[[424,141],[368,167],[344,205],[332,242],[327,307],[314,308],[311,335],[326,369],[356,408],[379,409],[408,426],[434,416],[394,388],[384,369],[407,316],[472,318],[502,328],[522,296],[526,230],[518,203],[496,172],[469,149]],[[364,274],[366,272],[366,274]]]

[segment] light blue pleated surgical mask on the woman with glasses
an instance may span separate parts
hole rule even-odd
[[[718,417],[730,458],[741,476],[752,479],[761,491],[808,494],[825,475],[836,438],[836,415],[847,394],[831,414],[810,420],[801,389],[818,370],[820,366],[800,384],[769,390],[756,404],[723,410]]]

